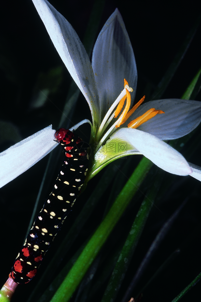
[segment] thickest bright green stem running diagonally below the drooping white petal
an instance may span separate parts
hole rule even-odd
[[[85,249],[80,254],[80,257],[58,288],[51,302],[69,301],[152,165],[149,159],[143,157],[121,193],[118,195],[105,219],[95,231]]]

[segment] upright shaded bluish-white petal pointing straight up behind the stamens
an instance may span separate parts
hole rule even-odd
[[[110,108],[124,88],[124,78],[133,88],[137,86],[137,68],[133,48],[118,9],[103,26],[93,49],[92,67],[99,91],[101,114]]]

